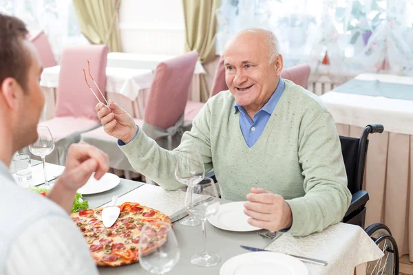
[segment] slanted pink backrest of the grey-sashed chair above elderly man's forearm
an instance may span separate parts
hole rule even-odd
[[[189,52],[159,63],[145,107],[145,122],[167,129],[184,113],[198,53]]]

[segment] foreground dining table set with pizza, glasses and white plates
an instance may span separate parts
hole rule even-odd
[[[34,162],[35,166],[41,166],[39,162]],[[51,170],[48,170],[50,174],[59,174],[58,171],[63,173],[63,166],[60,168],[59,166],[50,167]],[[59,175],[56,175],[56,178],[58,177]],[[52,180],[52,184],[54,181],[56,179]],[[82,199],[88,201],[89,208],[100,208],[110,206],[112,196],[117,195],[118,205],[127,201],[138,202],[167,214],[173,221],[173,232],[176,234],[180,248],[180,259],[167,274],[229,275],[222,273],[221,270],[222,265],[229,259],[241,254],[257,253],[248,252],[248,250],[241,248],[241,245],[327,262],[326,266],[304,263],[309,275],[366,274],[368,262],[383,256],[383,252],[362,228],[347,223],[330,225],[325,230],[308,236],[292,236],[286,232],[278,233],[275,239],[267,239],[257,234],[257,232],[265,232],[266,230],[237,232],[224,230],[207,222],[207,250],[219,254],[221,261],[213,267],[198,267],[193,265],[190,259],[193,254],[200,252],[203,248],[201,226],[189,227],[179,223],[179,219],[187,215],[184,203],[186,192],[165,190],[160,186],[129,179],[120,178],[118,181],[114,188],[96,194],[83,195]],[[232,203],[232,201],[220,199],[221,205],[225,203]],[[98,270],[103,275],[149,274],[139,263],[121,267],[98,267]]]

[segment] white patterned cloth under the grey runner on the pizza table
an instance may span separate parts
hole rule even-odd
[[[117,204],[127,201],[138,202],[160,210],[173,218],[185,207],[184,197],[184,192],[168,191],[159,186],[145,184],[119,197]],[[105,206],[109,206],[109,204],[107,203]],[[212,241],[211,234],[213,233],[207,234],[209,234],[209,240]],[[233,234],[236,235],[237,232],[233,232]],[[219,244],[215,243],[215,245]],[[374,261],[383,256],[381,250],[362,228],[346,223],[337,223],[323,232],[305,237],[283,234],[266,249],[328,262],[326,267],[306,264],[310,275],[353,275],[355,267],[363,267],[363,263]],[[357,275],[359,274],[366,274],[366,271],[364,270],[364,273],[357,271]]]

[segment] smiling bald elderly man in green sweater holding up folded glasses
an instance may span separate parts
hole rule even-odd
[[[173,176],[177,158],[197,149],[222,197],[248,200],[251,225],[293,235],[321,231],[343,219],[351,200],[339,136],[317,96],[279,77],[277,50],[272,32],[238,33],[224,51],[229,91],[208,100],[173,151],[114,102],[96,105],[98,117],[131,165],[163,188],[182,187]]]

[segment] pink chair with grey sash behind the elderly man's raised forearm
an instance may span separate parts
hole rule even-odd
[[[159,63],[154,72],[144,119],[134,120],[140,131],[163,148],[172,149],[180,144],[185,104],[197,61],[198,54],[190,52]],[[82,133],[81,140],[105,151],[109,155],[111,168],[134,171],[118,148],[116,138],[107,135],[103,126]]]

